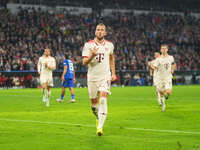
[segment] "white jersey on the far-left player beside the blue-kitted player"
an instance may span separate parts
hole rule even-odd
[[[56,66],[56,61],[53,57],[40,57],[38,61],[38,72],[40,72],[41,76],[52,76],[52,71],[51,69],[47,68],[45,64],[48,64],[49,66]]]

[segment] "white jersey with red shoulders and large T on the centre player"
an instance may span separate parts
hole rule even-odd
[[[102,79],[111,79],[110,55],[113,54],[114,46],[109,41],[99,44],[95,40],[85,43],[82,57],[89,57],[91,50],[98,48],[97,56],[88,64],[88,81],[99,81]]]

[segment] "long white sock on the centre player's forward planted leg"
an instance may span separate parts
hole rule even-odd
[[[99,99],[98,116],[99,116],[99,124],[97,128],[103,128],[103,124],[107,116],[107,98],[105,97],[100,97]]]

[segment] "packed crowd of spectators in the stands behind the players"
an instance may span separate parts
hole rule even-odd
[[[1,9],[0,20],[0,71],[36,70],[45,47],[53,50],[57,70],[62,70],[62,55],[67,52],[75,70],[85,71],[83,44],[93,38],[98,22],[107,25],[107,39],[115,45],[117,70],[148,70],[147,62],[161,43],[169,44],[177,70],[200,70],[200,20],[189,14],[113,13],[101,18],[96,11],[75,16],[29,8],[18,14]]]

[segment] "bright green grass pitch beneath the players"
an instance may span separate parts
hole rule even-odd
[[[74,104],[57,103],[60,92],[46,108],[41,89],[0,90],[0,150],[200,150],[200,86],[174,86],[166,112],[153,87],[112,88],[102,137],[87,89]]]

